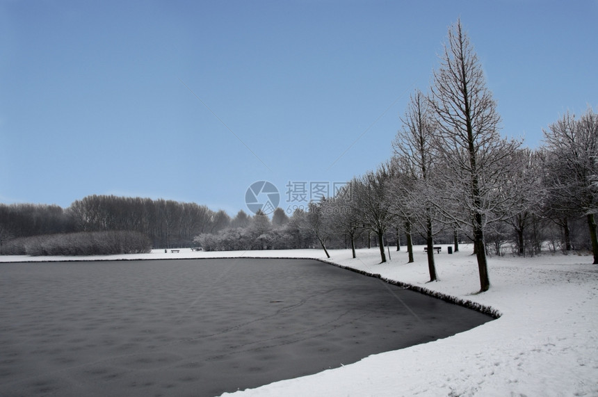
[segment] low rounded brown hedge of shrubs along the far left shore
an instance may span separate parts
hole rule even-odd
[[[1,247],[5,255],[108,255],[149,252],[149,238],[139,232],[78,232],[13,238]]]

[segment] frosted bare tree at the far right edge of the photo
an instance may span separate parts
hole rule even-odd
[[[588,110],[576,120],[567,112],[544,130],[551,205],[563,213],[585,216],[594,264],[598,264],[595,214],[598,212],[598,114]]]

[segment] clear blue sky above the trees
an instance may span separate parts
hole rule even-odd
[[[234,215],[266,180],[287,209],[300,182],[389,159],[459,17],[505,136],[537,147],[567,109],[598,106],[596,0],[0,0],[0,202]]]

